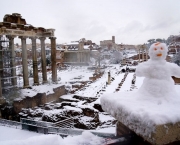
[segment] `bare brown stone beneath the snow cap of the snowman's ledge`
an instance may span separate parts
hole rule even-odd
[[[137,126],[134,126],[137,128]],[[133,129],[129,129],[127,126],[122,124],[121,122],[117,122],[116,125],[116,133],[117,136],[122,135],[131,135],[134,136],[135,132]],[[153,145],[172,145],[173,142],[180,140],[180,122],[175,124],[162,124],[162,125],[155,125],[155,131],[149,134],[149,137],[143,136],[142,134],[137,134],[141,136],[144,140],[148,141]],[[143,142],[143,145],[148,144],[148,142],[143,141],[140,137],[138,138],[138,142]],[[180,144],[180,142],[178,142]]]

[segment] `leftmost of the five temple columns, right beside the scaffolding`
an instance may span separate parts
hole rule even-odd
[[[14,51],[14,38],[16,36],[7,36],[9,39],[9,50],[10,50],[10,66],[11,66],[11,83],[13,86],[17,86],[17,77],[16,77],[16,65],[15,65],[15,51]]]

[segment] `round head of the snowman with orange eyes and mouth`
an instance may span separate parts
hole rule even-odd
[[[167,46],[165,43],[154,43],[149,48],[149,56],[152,60],[164,60],[167,56]]]

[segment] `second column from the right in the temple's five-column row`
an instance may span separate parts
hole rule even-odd
[[[41,65],[42,65],[42,77],[43,84],[47,83],[47,70],[46,70],[46,52],[45,52],[45,37],[39,38],[41,41]]]

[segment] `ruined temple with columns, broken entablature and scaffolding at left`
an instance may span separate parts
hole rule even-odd
[[[45,29],[43,27],[34,27],[27,24],[21,14],[6,14],[3,22],[0,22],[0,98],[2,98],[2,89],[13,88],[17,86],[16,65],[15,65],[15,48],[14,38],[21,39],[22,46],[22,68],[24,88],[29,88],[28,63],[27,63],[27,38],[32,41],[32,62],[34,85],[39,85],[36,40],[41,42],[41,66],[43,83],[47,83],[45,40],[46,37],[51,42],[51,70],[52,81],[57,81],[56,68],[56,37],[55,29]],[[8,71],[7,71],[8,70]],[[8,81],[6,81],[8,80]],[[7,83],[8,82],[8,83]],[[6,85],[5,85],[6,84]]]

